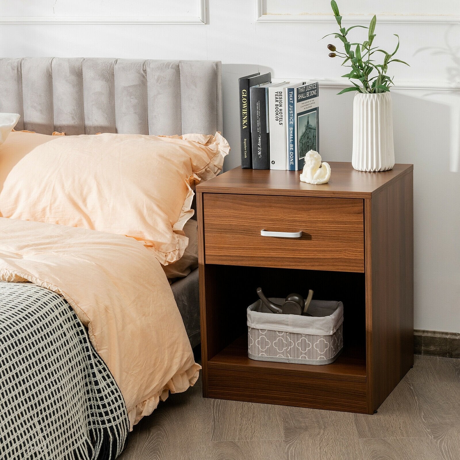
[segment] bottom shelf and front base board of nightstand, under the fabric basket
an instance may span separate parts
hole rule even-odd
[[[368,413],[365,351],[345,347],[331,364],[255,361],[239,337],[207,362],[207,397]]]

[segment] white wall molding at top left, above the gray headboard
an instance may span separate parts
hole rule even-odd
[[[207,24],[207,0],[198,1],[198,16],[184,17],[1,17],[0,24]]]

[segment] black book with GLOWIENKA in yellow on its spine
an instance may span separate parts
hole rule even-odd
[[[249,88],[251,86],[268,83],[271,81],[270,72],[260,75],[256,73],[241,77],[238,80],[240,100],[240,137],[241,137],[241,167],[252,167],[251,155],[251,109]]]

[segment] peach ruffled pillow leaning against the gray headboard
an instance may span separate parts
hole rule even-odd
[[[219,133],[11,132],[0,146],[0,217],[131,236],[168,265],[187,247],[195,184],[217,175],[229,150]]]

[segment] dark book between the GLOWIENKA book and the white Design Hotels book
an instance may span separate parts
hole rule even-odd
[[[272,86],[272,83],[250,88],[253,169],[270,169],[270,141],[268,137],[269,86]]]

